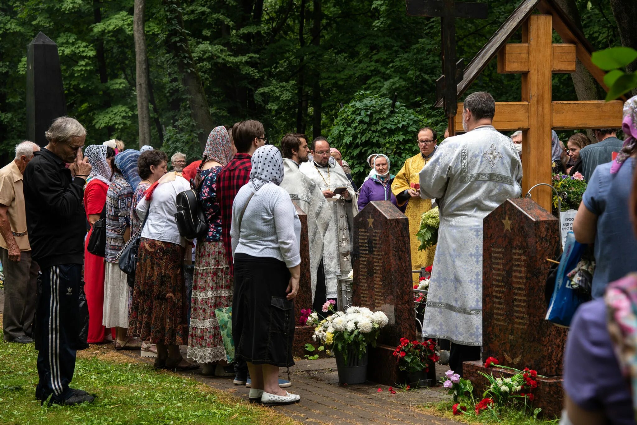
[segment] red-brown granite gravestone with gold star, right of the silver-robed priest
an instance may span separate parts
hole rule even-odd
[[[482,358],[495,357],[512,368],[531,368],[538,378],[534,407],[544,414],[561,409],[562,360],[566,329],[544,319],[545,282],[550,263],[561,251],[559,220],[530,198],[508,199],[483,220]],[[475,388],[486,380],[481,362],[463,365]]]

